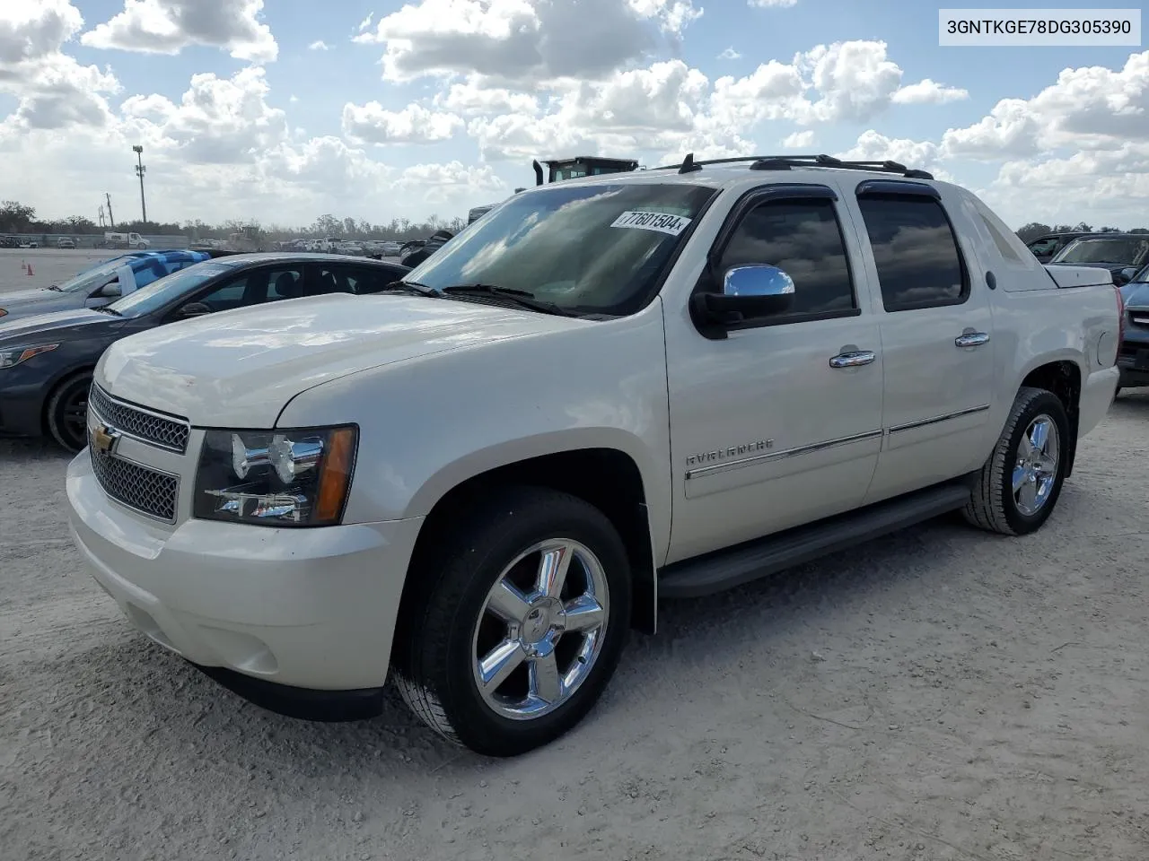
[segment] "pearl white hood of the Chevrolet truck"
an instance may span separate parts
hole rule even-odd
[[[380,365],[594,325],[571,317],[401,294],[332,294],[205,315],[116,341],[97,379],[192,424],[273,427],[306,389]]]

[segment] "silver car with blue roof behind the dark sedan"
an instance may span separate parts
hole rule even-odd
[[[63,284],[0,293],[0,320],[99,308],[157,278],[218,255],[219,251],[185,250],[122,254],[84,270]]]

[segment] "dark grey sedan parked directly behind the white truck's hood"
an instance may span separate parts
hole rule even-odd
[[[246,305],[268,311],[277,300],[375,293],[407,271],[368,259],[236,254],[193,264],[99,308],[0,320],[0,433],[47,433],[65,449],[78,450],[86,441],[92,369],[121,338]]]

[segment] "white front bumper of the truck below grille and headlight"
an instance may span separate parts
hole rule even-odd
[[[277,696],[362,699],[384,684],[422,518],[314,529],[185,520],[172,530],[109,501],[86,450],[67,490],[72,540],[97,583],[139,630],[229,688],[276,708]],[[275,696],[241,690],[245,677]]]

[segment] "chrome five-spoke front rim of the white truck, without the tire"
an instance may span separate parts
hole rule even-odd
[[[585,544],[553,538],[520,553],[487,592],[475,628],[483,700],[511,720],[563,705],[602,650],[609,607],[607,574]]]

